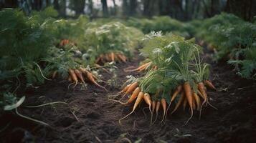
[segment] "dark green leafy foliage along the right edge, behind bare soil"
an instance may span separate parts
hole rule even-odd
[[[255,24],[225,13],[190,24],[194,25],[191,33],[217,50],[216,60],[229,60],[241,77],[255,79]]]

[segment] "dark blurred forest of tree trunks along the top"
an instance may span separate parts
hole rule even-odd
[[[253,0],[0,0],[0,9],[19,7],[26,14],[47,6],[54,6],[61,17],[80,14],[87,14],[90,18],[171,16],[188,21],[226,11],[251,21],[256,14],[256,9],[253,9],[256,2]]]

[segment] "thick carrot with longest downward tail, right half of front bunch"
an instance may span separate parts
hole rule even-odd
[[[189,117],[189,119],[186,121],[186,124],[187,124],[189,122],[189,120],[193,117],[193,98],[192,98],[193,95],[192,95],[192,91],[191,91],[189,82],[185,82],[183,87],[184,87],[186,99],[188,100],[189,107],[191,110],[191,117]]]

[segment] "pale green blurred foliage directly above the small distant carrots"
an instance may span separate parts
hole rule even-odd
[[[138,29],[120,22],[110,22],[102,26],[90,26],[86,29],[85,35],[85,46],[80,49],[86,51],[90,55],[90,60],[94,62],[100,54],[110,52],[131,56],[143,34]]]

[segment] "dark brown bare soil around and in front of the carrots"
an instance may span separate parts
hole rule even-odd
[[[207,56],[211,56],[207,54]],[[108,100],[108,95],[120,92],[126,76],[141,75],[123,71],[128,66],[137,66],[141,61],[136,56],[127,64],[117,64],[118,87],[104,85],[108,92],[88,84],[86,90],[67,89],[68,82],[47,82],[38,89],[29,90],[24,105],[37,105],[47,102],[67,102],[45,107],[19,107],[19,112],[47,122],[46,127],[6,112],[1,117],[0,142],[256,142],[256,83],[241,79],[232,66],[221,62],[212,65],[212,82],[217,92],[207,91],[209,102],[217,107],[204,107],[202,117],[199,113],[185,125],[189,110],[180,109],[167,116],[161,124],[161,115],[150,126],[150,113],[141,104],[134,114],[123,120],[118,119],[131,112],[131,106],[123,106]],[[103,74],[105,80],[111,74]],[[75,116],[72,114],[75,111]]]

